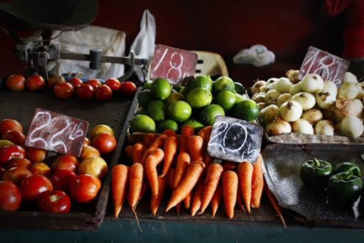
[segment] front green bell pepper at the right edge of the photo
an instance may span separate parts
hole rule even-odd
[[[353,172],[332,175],[327,182],[328,199],[341,205],[353,204],[363,192],[363,180]]]

